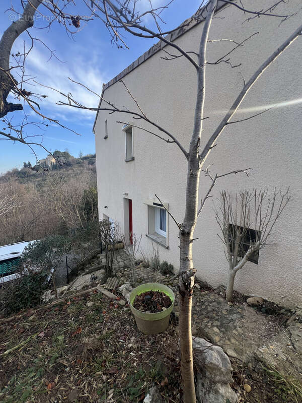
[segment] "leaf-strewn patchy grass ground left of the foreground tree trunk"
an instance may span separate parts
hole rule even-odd
[[[176,326],[144,335],[102,294],[29,311],[1,324],[0,338],[2,403],[139,402],[153,384],[180,401]]]

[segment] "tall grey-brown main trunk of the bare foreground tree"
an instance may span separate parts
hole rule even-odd
[[[185,403],[196,403],[191,326],[192,296],[196,270],[193,268],[192,243],[198,214],[198,190],[201,171],[199,146],[202,132],[205,95],[206,44],[216,5],[217,0],[211,0],[209,2],[209,11],[207,12],[199,46],[194,128],[187,157],[186,210],[179,233],[179,334],[181,347],[181,374]]]

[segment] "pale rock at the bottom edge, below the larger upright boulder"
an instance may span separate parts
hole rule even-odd
[[[197,399],[200,403],[236,403],[237,394],[229,384],[216,383],[197,375]]]

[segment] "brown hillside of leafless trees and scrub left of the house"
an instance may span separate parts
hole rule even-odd
[[[52,167],[24,162],[0,176],[0,245],[67,235],[98,219],[95,154],[53,155]]]

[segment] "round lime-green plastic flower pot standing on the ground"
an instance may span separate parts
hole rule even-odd
[[[170,297],[172,304],[164,311],[156,313],[148,313],[138,311],[133,307],[133,302],[136,295],[142,294],[146,291],[161,291]],[[144,334],[157,334],[165,331],[169,324],[170,314],[173,310],[175,296],[171,288],[159,283],[145,283],[142,284],[130,294],[130,308],[134,315],[136,325]]]

